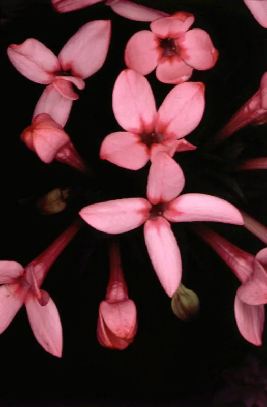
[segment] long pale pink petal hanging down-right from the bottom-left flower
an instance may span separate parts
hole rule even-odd
[[[45,306],[29,293],[25,306],[34,336],[45,351],[58,358],[62,356],[62,326],[55,303],[50,298]]]

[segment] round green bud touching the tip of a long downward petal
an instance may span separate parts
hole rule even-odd
[[[172,296],[171,309],[178,318],[185,321],[198,313],[199,299],[194,291],[180,284]]]

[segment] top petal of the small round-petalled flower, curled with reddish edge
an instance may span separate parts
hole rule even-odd
[[[159,38],[178,38],[189,30],[195,17],[191,13],[177,12],[170,17],[160,18],[150,24],[151,31]]]

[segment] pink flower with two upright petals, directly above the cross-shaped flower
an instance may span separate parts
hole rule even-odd
[[[115,118],[126,132],[105,137],[100,158],[123,168],[137,170],[158,151],[171,157],[175,151],[196,147],[183,137],[199,124],[205,107],[204,84],[188,82],[175,86],[156,111],[147,79],[130,69],[118,75],[112,96]]]

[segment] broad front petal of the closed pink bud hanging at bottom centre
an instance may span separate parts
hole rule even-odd
[[[132,340],[136,332],[137,321],[136,306],[132,300],[119,301],[113,304],[102,301],[99,306],[99,313],[113,335],[126,341]]]

